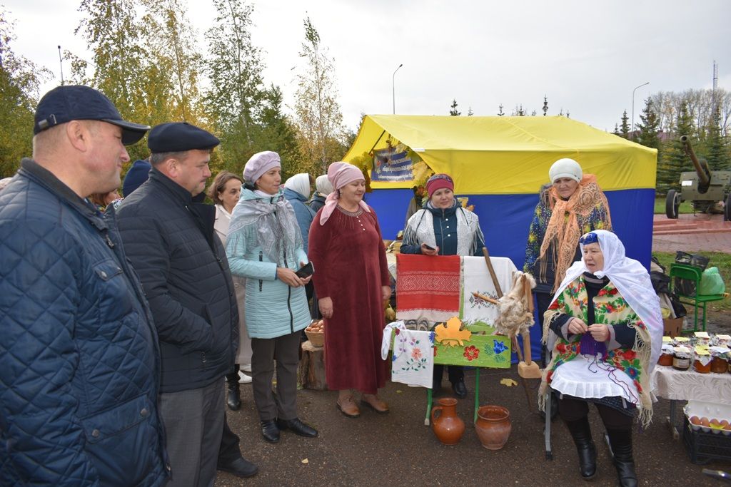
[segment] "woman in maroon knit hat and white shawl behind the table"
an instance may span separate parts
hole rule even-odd
[[[480,230],[480,218],[465,210],[455,199],[452,177],[436,174],[426,182],[428,202],[406,222],[401,253],[417,253],[425,256],[481,256],[485,237]],[[452,391],[464,399],[464,369],[448,367]],[[442,388],[444,366],[434,364],[432,391]]]

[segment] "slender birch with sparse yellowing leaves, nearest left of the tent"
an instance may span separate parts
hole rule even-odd
[[[335,66],[322,45],[310,18],[304,20],[305,41],[300,58],[307,64],[298,75],[295,119],[300,129],[303,154],[309,161],[319,161],[317,172],[344,155],[343,115],[338,104]]]

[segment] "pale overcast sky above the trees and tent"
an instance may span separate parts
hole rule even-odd
[[[0,0],[2,1],[2,0]],[[603,4],[601,7],[599,4]],[[15,53],[56,74],[57,45],[87,59],[74,34],[75,0],[5,0],[18,39]],[[208,0],[189,1],[189,19],[205,52],[213,20]],[[510,115],[518,104],[612,131],[623,110],[635,122],[643,99],[659,91],[731,90],[731,1],[616,0],[268,0],[254,2],[254,43],[265,51],[265,82],[291,106],[295,66],[309,15],[335,59],[344,122],[360,113],[448,115],[452,99],[466,115]],[[70,69],[70,66],[64,66]]]

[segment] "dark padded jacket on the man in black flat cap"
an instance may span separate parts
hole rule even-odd
[[[216,207],[193,203],[153,168],[117,210],[127,255],[150,302],[162,350],[162,392],[210,385],[234,364],[238,307]]]

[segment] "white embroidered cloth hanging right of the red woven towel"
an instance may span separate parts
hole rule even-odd
[[[505,294],[510,291],[512,286],[512,273],[518,269],[507,257],[491,257],[490,261],[493,264],[493,269],[495,269],[501,291]],[[489,325],[495,323],[499,315],[497,305],[472,295],[473,292],[477,292],[482,296],[489,296],[494,299],[498,297],[485,258],[463,257],[462,275],[464,281],[462,321],[464,323],[483,321]]]

